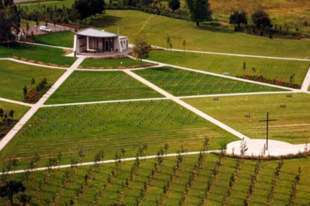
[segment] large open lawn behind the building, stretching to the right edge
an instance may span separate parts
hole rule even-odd
[[[186,49],[192,50],[310,58],[309,39],[269,39],[204,23],[197,27],[193,22],[141,11],[107,10],[104,15],[93,18],[89,26],[109,32],[117,32],[119,27],[120,34],[129,36],[131,43],[143,37],[152,45],[167,47],[166,38],[170,36],[173,48],[183,49],[182,43],[186,40]]]

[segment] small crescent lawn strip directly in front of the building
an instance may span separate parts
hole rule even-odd
[[[79,68],[91,68],[91,69],[117,69],[117,68],[134,68],[153,65],[151,63],[146,63],[131,58],[118,58],[118,59],[96,59],[88,58],[85,59]]]

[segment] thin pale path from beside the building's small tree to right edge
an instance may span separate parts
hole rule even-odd
[[[202,54],[216,54],[216,55],[226,55],[226,56],[234,56],[234,57],[255,57],[255,58],[264,58],[264,59],[279,59],[279,60],[296,60],[296,61],[310,61],[310,59],[302,59],[302,58],[289,58],[289,57],[272,57],[272,56],[260,56],[260,55],[249,55],[249,54],[235,54],[235,53],[221,53],[221,52],[206,52],[206,51],[197,51],[197,50],[183,50],[183,49],[171,49],[164,47],[157,47],[167,51],[175,51],[175,52],[190,52],[190,53],[202,53]]]

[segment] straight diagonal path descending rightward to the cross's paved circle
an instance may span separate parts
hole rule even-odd
[[[187,108],[188,110],[194,112],[195,114],[201,116],[202,118],[212,122],[213,124],[219,126],[220,128],[224,129],[225,131],[235,135],[236,137],[239,137],[240,139],[242,139],[242,138],[249,139],[249,137],[246,137],[244,134],[241,134],[237,130],[227,126],[226,124],[220,122],[219,120],[216,120],[215,118],[207,115],[206,113],[204,113],[204,112],[198,110],[197,108],[189,105],[188,103],[182,101],[178,97],[175,97],[175,96],[171,95],[170,93],[168,93],[165,90],[159,88],[158,86],[154,85],[153,83],[151,83],[151,82],[147,81],[146,79],[140,77],[139,75],[133,73],[132,71],[130,71],[130,69],[125,69],[124,71],[126,72],[126,74],[128,74],[131,77],[137,79],[138,81],[144,83],[145,85],[151,87],[153,90],[157,91],[158,93],[160,93],[160,94],[166,96],[167,98],[175,101],[176,103],[180,104],[181,106]]]

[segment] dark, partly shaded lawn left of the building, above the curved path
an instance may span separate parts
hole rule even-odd
[[[73,64],[75,58],[64,57],[66,52],[59,48],[37,46],[30,44],[11,43],[0,45],[0,57],[17,56],[24,60],[33,60],[37,63],[43,62],[48,65],[67,66]]]

